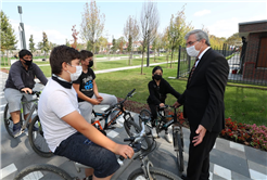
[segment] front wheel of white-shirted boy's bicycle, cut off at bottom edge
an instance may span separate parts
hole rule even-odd
[[[150,175],[153,180],[181,180],[181,178],[175,173],[156,167],[150,167]],[[143,169],[138,168],[129,175],[128,180],[147,180],[148,178]]]

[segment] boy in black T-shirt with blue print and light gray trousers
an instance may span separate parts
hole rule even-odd
[[[93,65],[92,52],[81,50],[80,63],[82,72],[79,78],[73,81],[73,87],[78,94],[80,114],[87,121],[91,123],[93,105],[114,105],[117,103],[117,98],[106,93],[99,93],[96,75],[91,68]],[[118,121],[115,121],[113,126],[117,128],[123,127]]]

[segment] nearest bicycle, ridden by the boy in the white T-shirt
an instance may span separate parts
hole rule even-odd
[[[156,142],[153,141],[153,145],[150,146],[147,151],[141,150],[142,139],[147,137],[144,123],[142,124],[142,130],[140,129],[140,133],[135,137],[130,137],[125,139],[124,141],[130,141],[129,145],[132,146],[135,153],[139,153],[136,157],[132,157],[131,160],[139,158],[142,164],[140,168],[134,170],[129,176],[128,180],[137,180],[137,179],[147,179],[147,180],[181,180],[178,176],[169,172],[167,170],[153,167],[153,164],[149,160],[148,154],[155,150]],[[123,157],[119,156],[119,160],[123,160]],[[80,168],[90,168],[85,165],[74,163],[76,170],[79,172]],[[123,166],[122,162],[120,165]],[[18,175],[15,176],[14,180],[22,179],[63,179],[63,180],[74,180],[77,179],[75,177],[69,176],[65,170],[55,167],[53,165],[40,164],[40,165],[31,165],[29,167],[24,168]]]

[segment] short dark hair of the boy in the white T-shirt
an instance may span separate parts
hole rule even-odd
[[[71,64],[71,62],[75,59],[80,59],[80,53],[76,49],[67,46],[59,46],[53,48],[49,57],[52,74],[61,75],[62,63],[66,62]]]

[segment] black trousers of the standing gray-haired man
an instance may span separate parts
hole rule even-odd
[[[190,127],[189,160],[187,180],[208,180],[209,177],[209,152],[213,150],[219,132],[206,131],[203,141],[194,146],[193,138],[196,136],[198,127]]]

